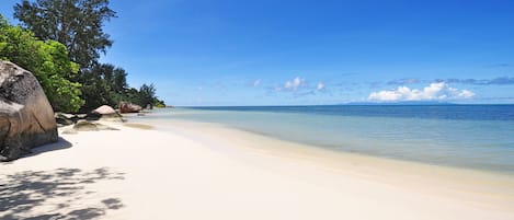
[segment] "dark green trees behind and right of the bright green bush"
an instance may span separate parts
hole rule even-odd
[[[124,69],[99,62],[100,55],[113,44],[110,35],[104,33],[103,24],[115,16],[116,12],[108,8],[108,0],[23,0],[14,5],[14,18],[22,22],[23,27],[45,42],[64,44],[60,49],[67,49],[66,56],[80,65],[78,74],[60,77],[82,85],[81,95],[85,103],[81,112],[100,105],[115,106],[121,101],[141,106],[163,105],[156,97],[152,84],[144,84],[139,91],[129,88]],[[65,83],[60,79],[50,82]]]

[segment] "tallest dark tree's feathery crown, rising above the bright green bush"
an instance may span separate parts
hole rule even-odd
[[[112,46],[103,23],[116,16],[108,0],[23,0],[14,5],[14,18],[36,37],[60,42],[72,61],[92,67]]]

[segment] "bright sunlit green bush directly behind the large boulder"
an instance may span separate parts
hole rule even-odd
[[[1,15],[0,59],[34,73],[55,111],[77,112],[83,105],[80,84],[68,80],[79,68],[69,60],[66,46],[37,40],[31,32],[10,25]]]

